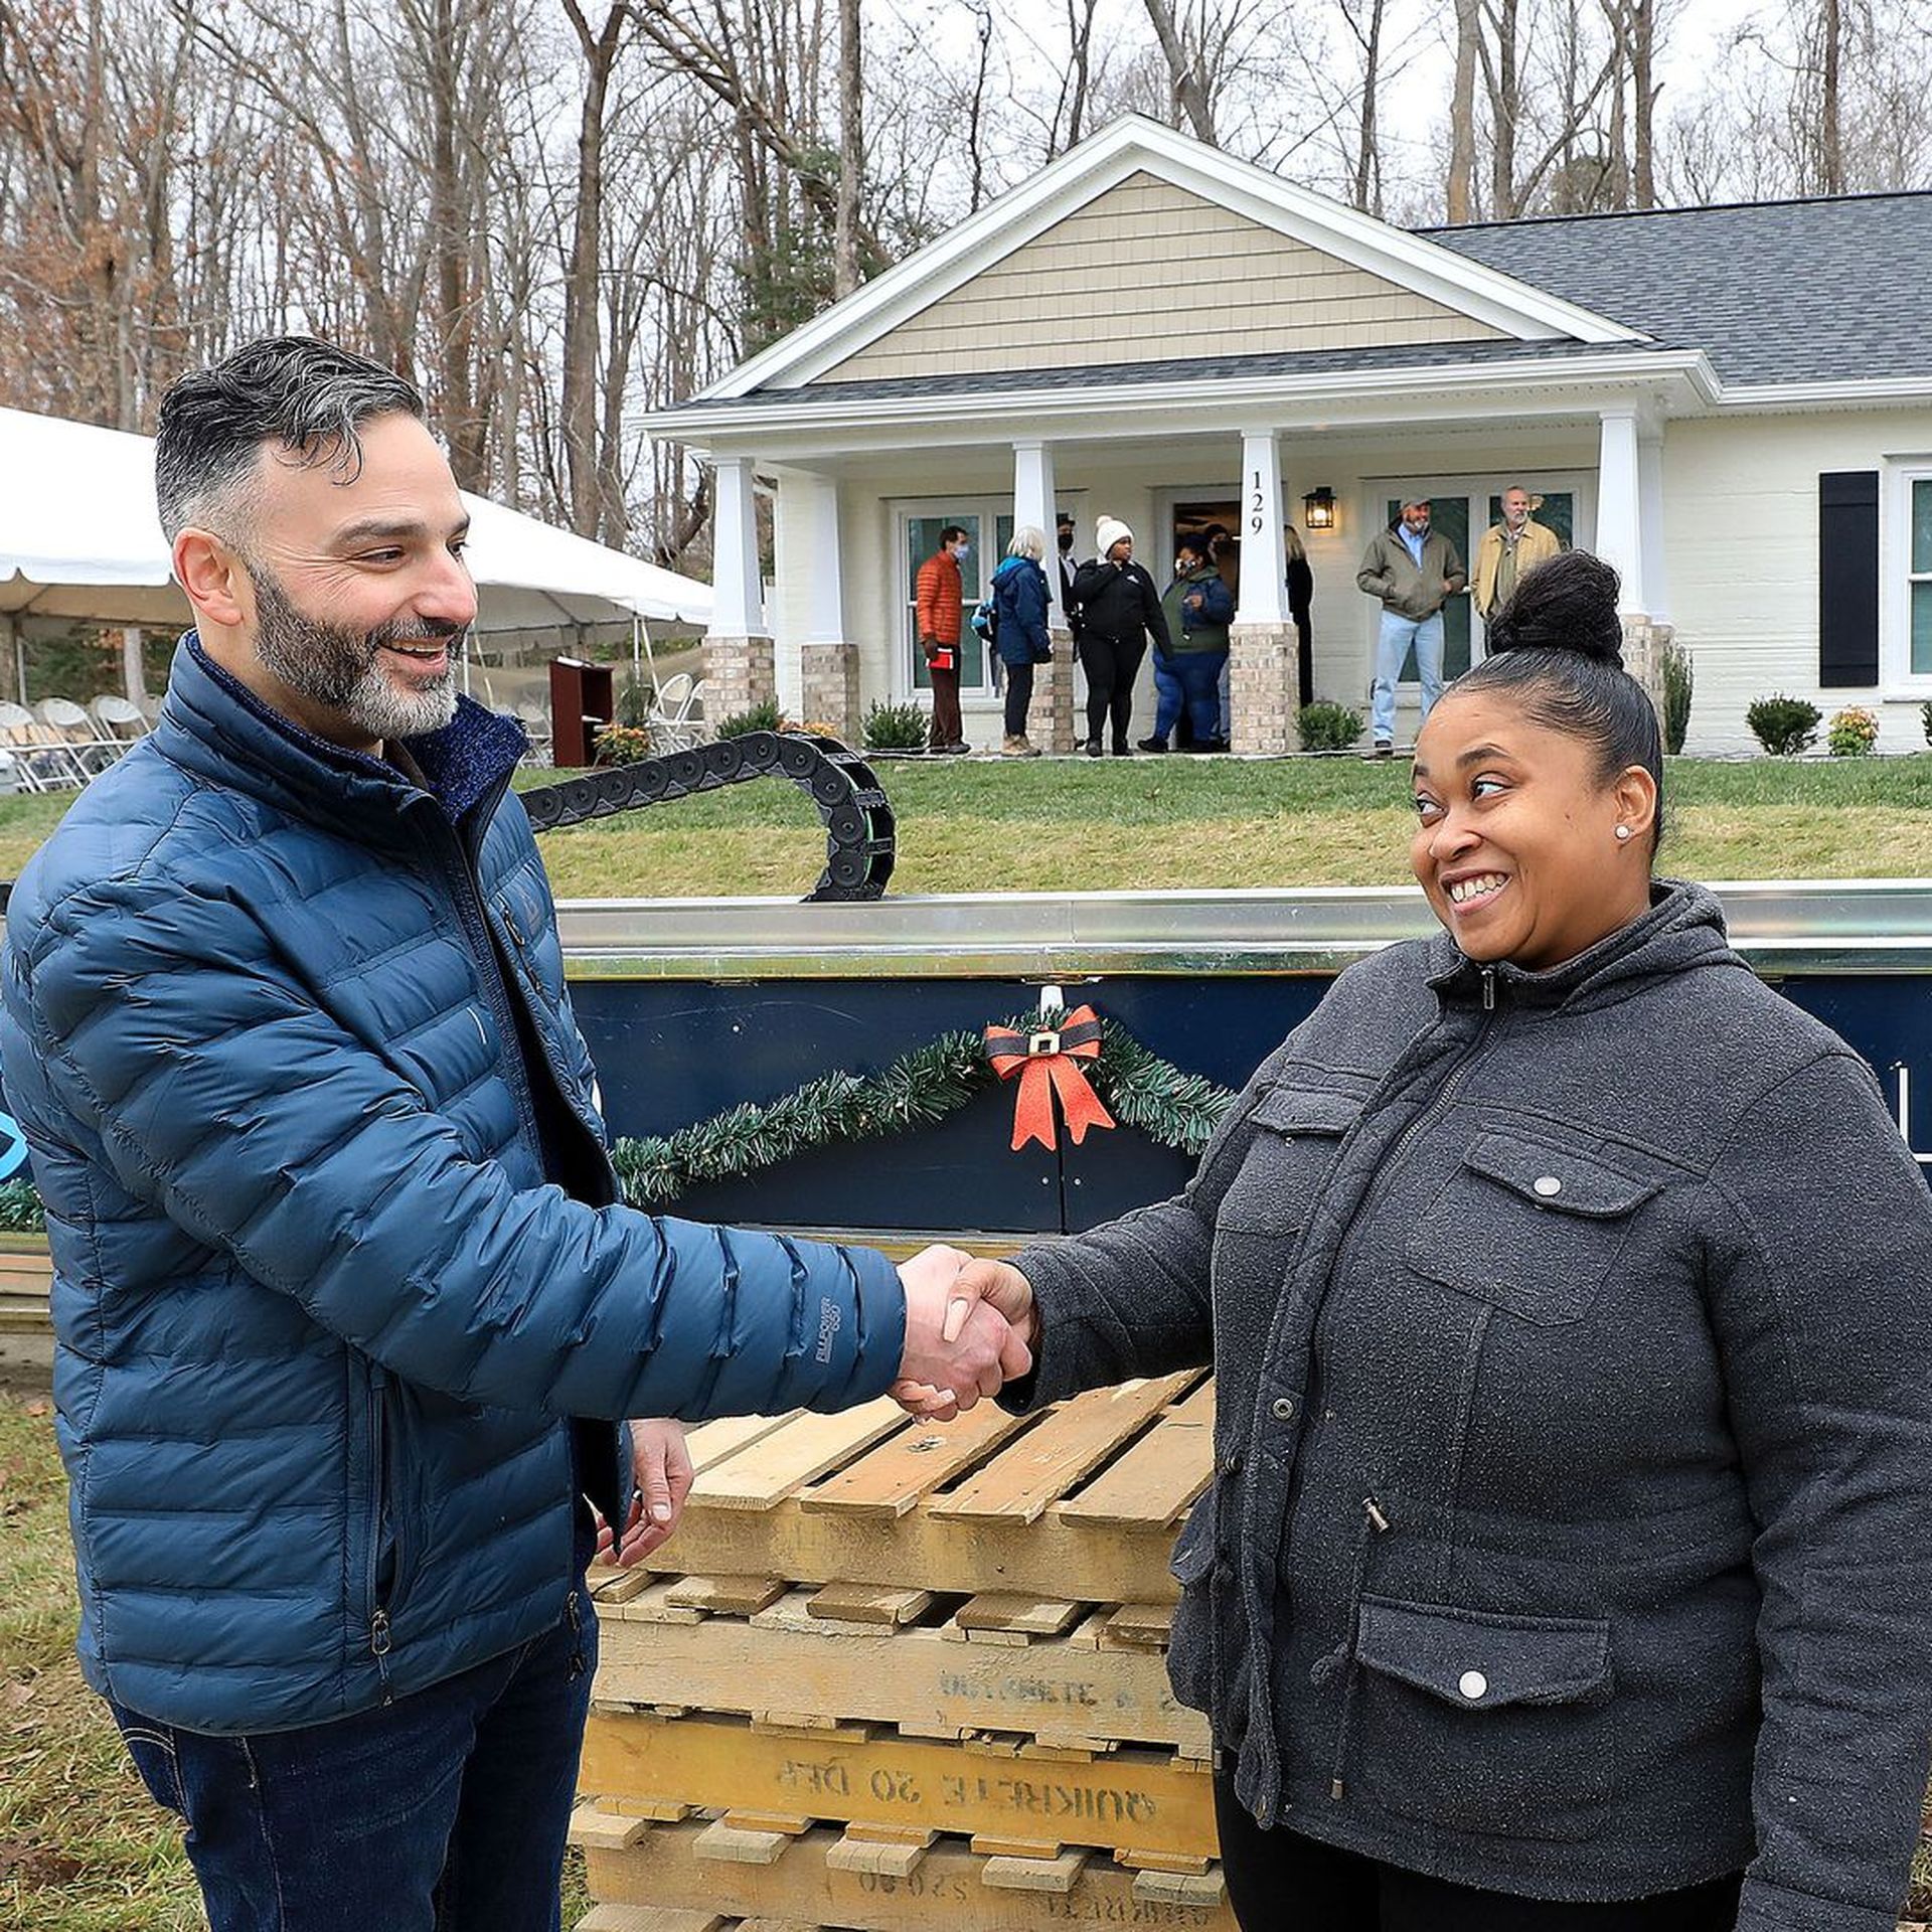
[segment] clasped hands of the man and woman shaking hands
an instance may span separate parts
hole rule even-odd
[[[906,1289],[906,1352],[891,1393],[908,1414],[945,1422],[1032,1372],[1039,1333],[1034,1291],[1009,1262],[922,1248],[898,1264],[898,1279]]]

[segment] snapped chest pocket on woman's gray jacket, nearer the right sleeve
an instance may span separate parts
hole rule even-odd
[[[1430,1281],[1555,1325],[1590,1312],[1662,1175],[1528,1134],[1478,1134],[1408,1236]]]

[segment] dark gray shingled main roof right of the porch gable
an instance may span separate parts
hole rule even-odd
[[[1932,193],[1418,234],[1660,342],[1702,348],[1727,386],[1932,381]]]

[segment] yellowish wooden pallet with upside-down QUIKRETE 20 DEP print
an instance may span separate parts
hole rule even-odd
[[[599,1708],[578,1783],[611,1812],[728,1808],[786,1832],[947,1832],[1016,1857],[1080,1847],[1204,1864],[1217,1849],[1206,1762],[1134,1747],[1094,1752],[995,1735],[935,1743],[860,1723],[794,1729]]]

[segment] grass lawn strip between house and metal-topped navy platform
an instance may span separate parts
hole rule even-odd
[[[1358,757],[889,759],[895,893],[1401,885],[1408,767]],[[554,773],[529,773],[547,784]],[[1673,759],[1660,864],[1698,879],[1932,877],[1932,753]],[[66,798],[0,798],[14,877]],[[802,895],[825,838],[790,784],[736,784],[545,837],[570,898]]]

